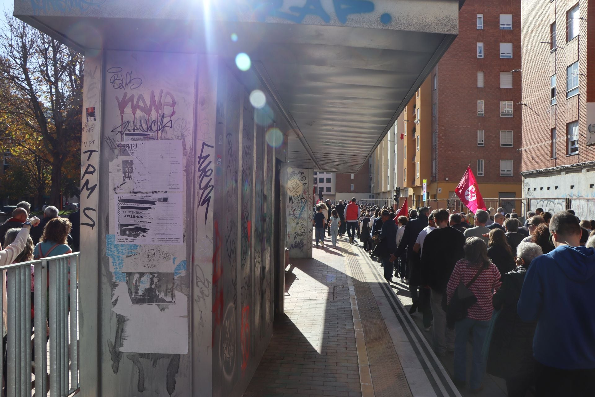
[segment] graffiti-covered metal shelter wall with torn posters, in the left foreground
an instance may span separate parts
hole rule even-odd
[[[242,395],[272,332],[289,126],[215,56],[107,51],[85,67],[82,395]]]

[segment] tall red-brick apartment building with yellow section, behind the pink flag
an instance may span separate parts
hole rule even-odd
[[[459,35],[403,112],[409,205],[452,198],[467,166],[484,198],[521,197],[521,1],[466,0]],[[435,205],[435,204],[432,204]],[[515,202],[508,202],[515,206]]]

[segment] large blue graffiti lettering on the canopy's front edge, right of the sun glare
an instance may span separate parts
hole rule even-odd
[[[302,23],[307,15],[317,15],[322,21],[329,23],[331,20],[328,12],[322,7],[321,0],[306,0],[302,7],[292,5],[290,12],[280,11],[284,0],[252,0],[252,9],[256,19],[264,22],[267,17],[277,17]],[[333,0],[334,13],[340,23],[346,23],[350,14],[368,14],[374,11],[374,3],[369,0]]]

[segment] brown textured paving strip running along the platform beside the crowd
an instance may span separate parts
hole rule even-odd
[[[344,249],[353,252],[349,243],[342,242]],[[352,277],[353,289],[358,299],[359,315],[362,320],[368,361],[372,374],[375,397],[412,396],[403,367],[394,350],[389,331],[378,309],[372,290],[365,280],[357,255],[346,255],[347,267]]]

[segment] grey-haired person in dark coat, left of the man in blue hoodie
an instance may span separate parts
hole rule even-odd
[[[516,268],[502,276],[494,294],[494,309],[501,310],[494,324],[487,372],[506,380],[509,397],[525,396],[534,382],[533,335],[537,323],[525,323],[516,312],[527,268],[542,254],[536,243],[521,242],[514,258]]]

